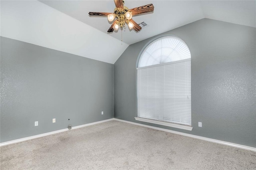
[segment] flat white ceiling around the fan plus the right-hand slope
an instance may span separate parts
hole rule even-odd
[[[114,0],[42,2],[108,34],[111,23],[107,17],[90,17],[88,12],[114,12]],[[138,24],[146,22],[148,27],[138,33],[126,28],[125,32],[122,32],[124,42],[136,43],[202,18],[255,27],[255,1],[126,0],[125,6],[130,9],[151,3],[154,5],[153,13],[133,17]],[[109,35],[121,39],[120,30]]]

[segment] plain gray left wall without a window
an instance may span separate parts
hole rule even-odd
[[[1,37],[0,69],[0,142],[114,116],[113,64]]]

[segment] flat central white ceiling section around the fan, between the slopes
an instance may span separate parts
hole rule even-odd
[[[107,33],[111,26],[107,17],[88,15],[88,12],[114,12],[114,0],[42,2],[104,32],[105,34],[121,40],[120,30],[110,34]],[[148,27],[138,33],[126,28],[126,30],[123,30],[122,32],[122,39],[124,42],[128,44],[136,43],[204,18],[200,1],[126,0],[125,6],[128,8],[135,8],[151,3],[154,5],[154,13],[133,17],[135,22],[138,24],[146,22]]]

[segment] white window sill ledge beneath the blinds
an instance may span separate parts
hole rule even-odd
[[[156,120],[152,120],[152,119],[145,119],[145,118],[140,118],[140,117],[134,117],[136,121],[141,121],[141,122],[147,122],[147,123],[154,123],[157,125],[164,125],[167,127],[174,127],[174,128],[180,128],[180,129],[184,129],[184,130],[192,130],[193,127],[189,126],[189,125],[180,125],[180,124],[176,124],[176,123],[169,123],[169,122],[162,122],[162,121],[156,121]]]

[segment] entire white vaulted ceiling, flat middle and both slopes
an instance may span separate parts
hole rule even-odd
[[[114,63],[129,44],[202,18],[256,27],[256,1],[126,0],[135,8],[152,3],[154,12],[134,16],[148,27],[108,34],[106,17],[88,12],[113,12],[114,0],[1,1],[1,36]]]

